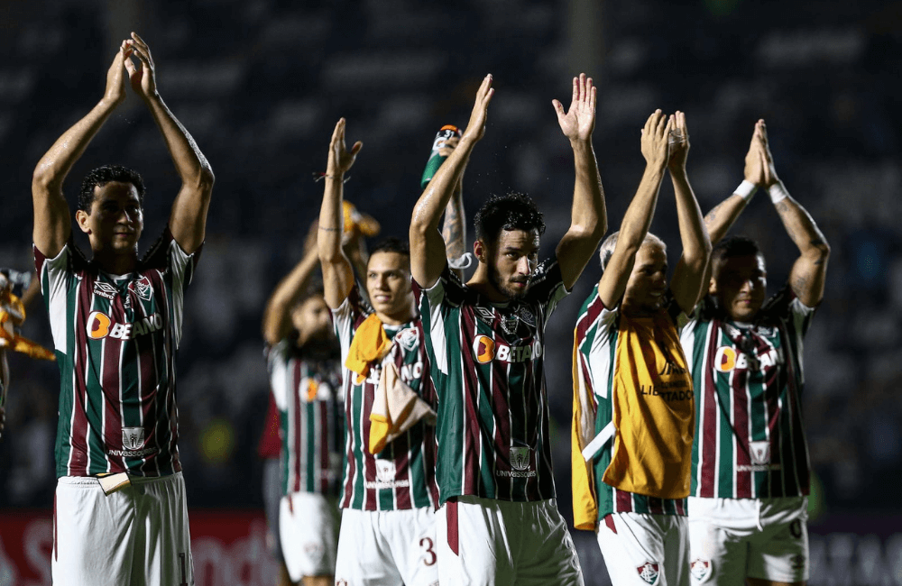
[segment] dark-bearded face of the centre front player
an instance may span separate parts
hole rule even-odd
[[[507,298],[525,296],[538,266],[538,230],[502,230],[498,241],[486,248],[492,286]]]

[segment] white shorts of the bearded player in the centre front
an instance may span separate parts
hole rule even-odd
[[[583,586],[573,539],[554,499],[457,497],[436,517],[442,584]]]

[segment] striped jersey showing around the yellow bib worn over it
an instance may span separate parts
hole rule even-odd
[[[679,314],[679,306],[669,293],[667,311],[673,320]],[[595,433],[612,421],[612,388],[614,357],[619,334],[620,308],[604,307],[598,296],[598,285],[586,298],[576,318],[575,344],[576,367],[581,369],[586,387],[592,391],[595,400]],[[674,324],[676,330],[676,323]],[[598,499],[598,518],[610,513],[645,513],[649,515],[686,515],[686,499],[658,499],[636,494],[627,490],[617,490],[603,481],[604,471],[611,463],[613,441],[604,444],[593,459],[594,485]]]

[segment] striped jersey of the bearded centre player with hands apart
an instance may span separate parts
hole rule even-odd
[[[507,303],[490,302],[448,269],[423,291],[441,502],[555,497],[543,356],[548,316],[566,294],[557,261],[540,264],[526,296]]]

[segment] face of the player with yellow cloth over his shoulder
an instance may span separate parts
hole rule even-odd
[[[366,292],[383,322],[410,321],[416,314],[410,257],[399,252],[374,252],[366,265]]]

